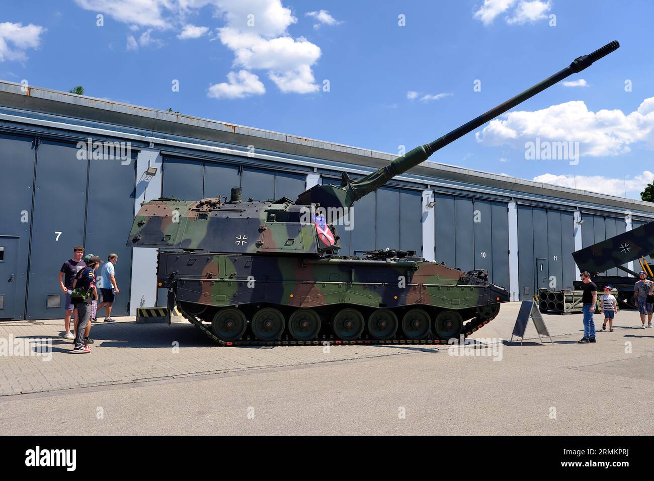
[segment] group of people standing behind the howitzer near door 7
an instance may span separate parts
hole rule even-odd
[[[105,308],[105,323],[112,323],[111,307],[116,298],[116,270],[118,255],[111,253],[105,263],[97,255],[84,255],[84,247],[76,245],[73,248],[73,258],[66,260],[59,272],[61,291],[66,294],[65,314],[63,317],[63,337],[74,339],[73,353],[91,352],[94,341],[89,337],[91,323],[97,322],[97,312]],[[102,266],[100,276],[95,271]],[[102,293],[102,302],[98,304],[97,289]],[[71,330],[71,316],[73,329]]]

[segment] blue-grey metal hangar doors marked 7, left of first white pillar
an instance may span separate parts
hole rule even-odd
[[[104,259],[109,252],[118,254],[121,293],[114,313],[126,312],[131,249],[125,239],[133,216],[135,163],[80,160],[77,152],[75,143],[41,140],[35,147],[31,137],[0,137],[1,188],[10,193],[3,196],[0,236],[20,236],[18,253],[5,254],[17,258],[13,287],[7,290],[15,301],[12,306],[5,302],[13,313],[0,313],[0,318],[62,317],[65,296],[58,274],[75,245]]]

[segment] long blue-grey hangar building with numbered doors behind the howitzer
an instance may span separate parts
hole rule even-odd
[[[229,196],[235,185],[243,198],[294,199],[394,158],[0,81],[0,319],[61,317],[57,276],[78,244],[105,260],[118,253],[114,315],[165,304],[156,251],[126,247],[143,201]],[[423,162],[357,202],[354,228],[339,235],[341,254],[413,249],[487,269],[523,300],[552,281],[572,287],[573,251],[653,220],[647,202]]]

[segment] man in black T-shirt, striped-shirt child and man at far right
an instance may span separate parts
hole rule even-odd
[[[654,317],[654,282],[647,279],[647,273],[640,271],[640,279],[634,284],[634,304],[638,305],[641,324],[637,327],[645,329],[652,327],[652,317]],[[583,295],[581,302],[583,304],[583,338],[577,341],[579,344],[590,344],[595,341],[595,323],[593,313],[597,303],[597,285],[591,281],[591,274],[588,271],[581,273],[583,281]],[[604,294],[600,298],[600,313],[604,313],[604,324],[602,330],[606,330],[609,325],[610,332],[613,332],[613,319],[617,312],[617,300],[611,294],[611,286],[604,286]]]

